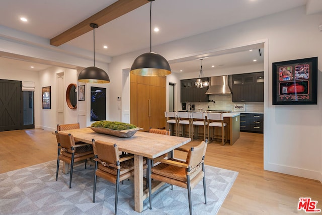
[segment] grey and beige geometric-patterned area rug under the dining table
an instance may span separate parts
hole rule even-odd
[[[60,165],[62,167],[62,164]],[[237,172],[205,166],[207,204],[202,181],[192,189],[193,214],[216,214]],[[98,177],[93,203],[94,166],[74,167],[71,189],[69,174],[61,169],[56,178],[56,161],[0,174],[0,214],[114,214],[115,185]],[[134,181],[120,184],[118,214],[189,214],[187,190],[165,184],[152,194],[152,209],[144,201],[141,213],[134,211]]]

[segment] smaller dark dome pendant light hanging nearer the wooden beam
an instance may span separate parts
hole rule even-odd
[[[93,28],[93,46],[94,46],[94,66],[87,67],[81,71],[78,75],[78,82],[85,82],[85,83],[98,83],[98,84],[105,84],[110,83],[110,78],[107,75],[107,73],[95,66],[95,29],[98,28],[97,24],[90,24],[90,26]]]

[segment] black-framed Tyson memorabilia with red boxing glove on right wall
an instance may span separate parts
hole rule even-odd
[[[317,57],[273,63],[273,105],[317,104]]]

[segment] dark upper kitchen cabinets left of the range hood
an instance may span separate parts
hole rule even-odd
[[[209,96],[206,92],[209,87],[197,88],[195,82],[197,79],[181,80],[181,102],[208,102]],[[203,82],[208,81],[209,78],[202,78]]]

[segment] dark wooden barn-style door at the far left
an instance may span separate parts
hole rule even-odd
[[[0,131],[21,129],[21,85],[0,79]]]

